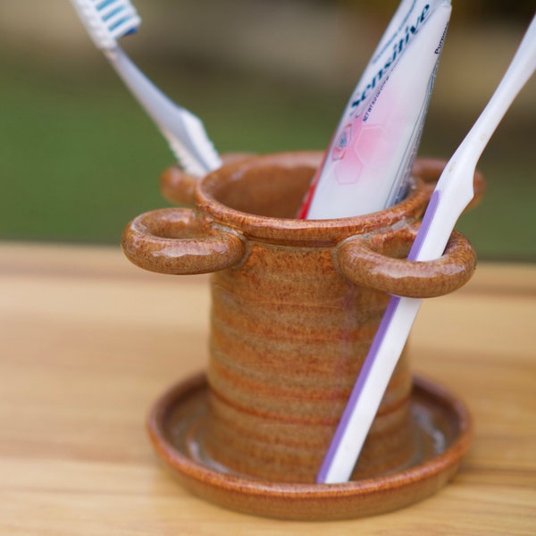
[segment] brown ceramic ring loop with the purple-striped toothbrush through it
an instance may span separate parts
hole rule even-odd
[[[339,272],[349,281],[395,296],[437,297],[464,286],[476,267],[469,240],[454,231],[444,254],[432,261],[408,261],[417,229],[404,227],[345,240],[336,250]]]

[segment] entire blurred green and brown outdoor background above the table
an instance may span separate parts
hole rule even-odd
[[[121,45],[197,113],[220,152],[323,150],[398,2],[138,0]],[[469,5],[468,5],[469,4]],[[420,155],[445,159],[481,113],[531,2],[453,0]],[[172,154],[67,0],[0,4],[0,239],[118,244],[167,205]],[[536,80],[482,156],[482,205],[458,229],[481,259],[536,261]]]

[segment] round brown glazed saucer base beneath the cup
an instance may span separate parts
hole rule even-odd
[[[435,383],[415,378],[412,415],[428,448],[417,453],[413,465],[342,484],[255,480],[204,456],[197,437],[208,410],[207,395],[204,374],[181,381],[157,400],[147,423],[149,436],[157,455],[188,490],[252,515],[329,521],[406,507],[445,485],[471,442],[472,422],[464,404]]]

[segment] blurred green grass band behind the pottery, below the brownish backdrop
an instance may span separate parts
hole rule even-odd
[[[223,153],[322,150],[348,97],[142,67],[202,117]],[[167,205],[158,177],[172,154],[104,60],[88,72],[0,58],[0,70],[0,239],[118,244],[132,217]],[[442,117],[432,101],[421,153],[448,158],[474,119]],[[520,134],[516,121],[507,116],[484,153],[488,192],[458,228],[481,258],[536,261],[534,129]]]

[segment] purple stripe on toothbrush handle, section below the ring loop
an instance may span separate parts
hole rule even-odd
[[[373,344],[364,359],[364,364],[361,367],[361,371],[359,373],[359,376],[357,377],[356,384],[352,389],[350,398],[348,398],[347,406],[345,407],[344,412],[340,417],[339,425],[337,426],[337,430],[335,431],[333,439],[331,440],[330,448],[328,448],[328,452],[326,453],[326,456],[324,457],[322,462],[322,467],[320,468],[320,471],[316,476],[317,483],[325,482],[328,476],[335,454],[338,451],[339,445],[343,440],[344,433],[348,428],[348,421],[354,413],[359,398],[361,398],[361,393],[363,391],[364,385],[368,380],[368,377],[373,368],[373,364],[378,353],[378,348],[380,348],[381,342],[385,337],[385,333],[389,329],[389,324],[397,310],[399,301],[400,297],[398,296],[393,296],[389,300],[389,304],[385,310],[385,313],[383,314],[383,318],[381,319],[378,331],[376,331],[376,335],[374,336]]]

